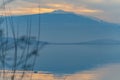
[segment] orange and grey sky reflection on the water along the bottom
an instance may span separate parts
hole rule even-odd
[[[32,73],[32,80],[120,80],[119,74],[120,64],[109,64],[74,74],[59,75],[44,72]],[[16,73],[16,80],[20,80],[19,76],[20,72]],[[31,73],[26,72],[23,80],[29,80],[30,76]]]

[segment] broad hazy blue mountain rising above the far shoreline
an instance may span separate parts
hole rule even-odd
[[[9,36],[12,36],[11,26],[15,27],[15,32],[19,34],[18,36],[26,35],[27,22],[29,22],[28,25],[31,25],[31,36],[36,36],[38,34],[39,16],[42,41],[82,42],[96,39],[120,40],[120,25],[62,10],[43,14],[12,16],[13,25],[11,25],[11,20],[6,17],[8,20]],[[5,20],[1,27],[6,30]]]

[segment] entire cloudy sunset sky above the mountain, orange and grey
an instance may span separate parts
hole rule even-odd
[[[0,7],[0,14],[9,10],[12,15],[52,12],[57,9],[97,17],[105,21],[120,23],[120,0],[4,0],[6,10]],[[3,0],[0,0],[3,5]],[[40,8],[39,8],[40,6]],[[39,10],[40,9],[40,10]]]

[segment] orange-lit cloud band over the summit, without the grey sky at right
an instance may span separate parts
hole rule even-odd
[[[50,12],[50,11],[53,11],[56,9],[63,9],[65,11],[72,11],[75,13],[100,12],[99,10],[89,9],[84,6],[75,6],[74,4],[69,4],[69,3],[67,4],[62,1],[61,1],[61,4],[59,3],[60,1],[53,0],[52,1],[53,3],[49,3],[50,1],[47,1],[47,0],[45,0],[45,1],[43,1],[43,0],[41,0],[41,1],[40,0],[19,0],[19,1],[18,0],[7,0],[6,8],[10,8],[11,13],[13,15],[44,13],[44,12]],[[12,2],[12,3],[10,3],[10,2]],[[40,3],[40,7],[41,7],[40,12],[35,11],[35,10],[37,10],[36,8],[38,8],[38,6],[39,6],[39,2],[41,2]],[[94,0],[92,0],[92,2],[94,2]],[[99,2],[99,0],[95,1],[95,2]],[[3,6],[3,4],[1,6]],[[8,12],[9,11],[7,11],[7,14],[8,14]],[[1,13],[4,13],[4,10],[2,10]]]

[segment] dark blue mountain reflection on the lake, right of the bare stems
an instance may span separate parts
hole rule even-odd
[[[120,63],[119,45],[46,46],[36,69],[53,73],[75,73],[110,63]]]

